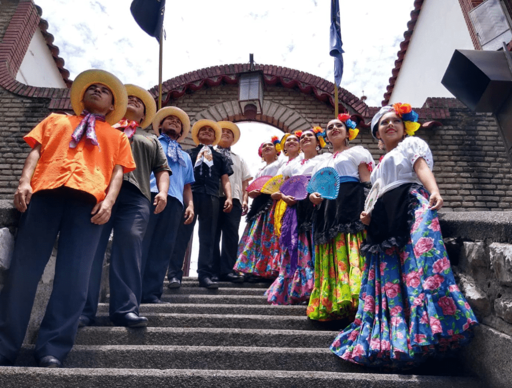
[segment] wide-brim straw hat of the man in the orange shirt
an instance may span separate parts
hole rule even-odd
[[[106,115],[106,122],[115,124],[126,112],[128,95],[123,83],[114,75],[104,70],[91,69],[78,74],[71,85],[71,106],[76,115],[83,111],[83,95],[93,83],[101,83],[110,89],[114,96],[114,110]]]

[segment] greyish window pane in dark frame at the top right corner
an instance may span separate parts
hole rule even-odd
[[[512,20],[508,11],[510,5],[507,3],[503,0],[486,0],[470,11],[483,50],[499,50],[502,42],[512,40]]]

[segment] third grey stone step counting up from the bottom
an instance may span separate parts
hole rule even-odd
[[[328,348],[337,334],[304,330],[87,327],[78,330],[75,344]]]

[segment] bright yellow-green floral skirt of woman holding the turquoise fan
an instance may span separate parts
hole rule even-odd
[[[314,286],[308,317],[330,320],[354,316],[365,263],[365,258],[359,254],[359,246],[365,235],[364,231],[339,233],[327,244],[315,246]]]

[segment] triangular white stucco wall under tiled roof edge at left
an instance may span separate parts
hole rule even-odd
[[[39,27],[30,41],[16,80],[36,87],[66,88]]]

